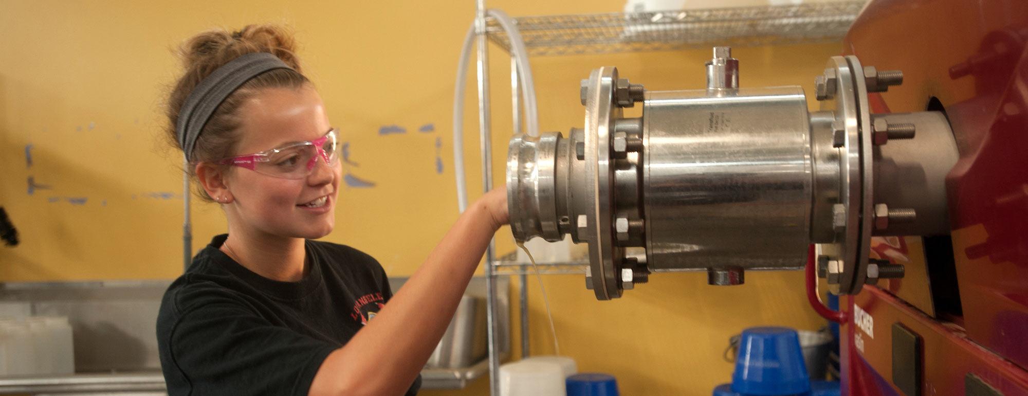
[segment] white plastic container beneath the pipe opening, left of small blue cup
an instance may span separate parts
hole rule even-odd
[[[567,396],[564,380],[564,369],[557,363],[507,363],[500,366],[500,396]]]

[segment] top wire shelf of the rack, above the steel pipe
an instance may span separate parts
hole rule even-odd
[[[866,1],[515,17],[528,55],[564,56],[838,41]],[[510,52],[499,24],[489,40]]]

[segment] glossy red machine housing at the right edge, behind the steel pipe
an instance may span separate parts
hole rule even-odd
[[[1026,42],[1025,0],[875,0],[850,29],[845,53],[904,72],[873,111],[945,111],[960,159],[952,247],[908,238],[924,272],[843,298],[843,394],[1028,396]],[[917,285],[933,304],[903,297]]]

